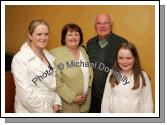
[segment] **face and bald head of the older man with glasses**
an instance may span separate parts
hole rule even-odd
[[[100,14],[96,17],[95,30],[99,39],[105,39],[111,32],[111,18],[107,14]]]

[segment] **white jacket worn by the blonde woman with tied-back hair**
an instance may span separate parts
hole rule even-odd
[[[43,50],[45,57],[54,68],[54,57]],[[55,92],[55,68],[50,69],[32,51],[26,42],[12,60],[15,80],[15,112],[50,113],[53,104],[61,104]]]

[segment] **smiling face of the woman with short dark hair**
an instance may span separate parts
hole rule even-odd
[[[65,43],[66,46],[70,49],[76,49],[79,46],[80,42],[80,35],[77,31],[67,31],[66,37],[65,37]]]

